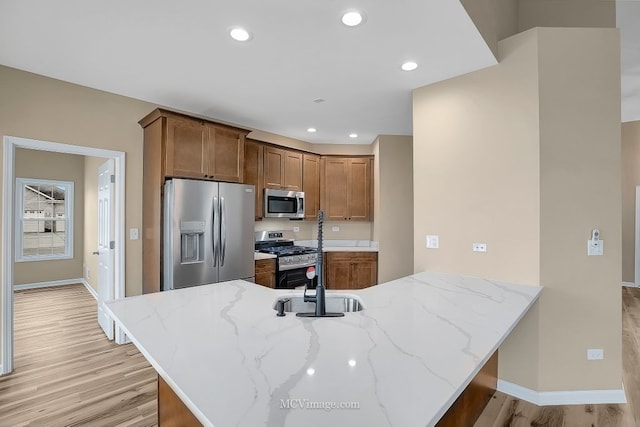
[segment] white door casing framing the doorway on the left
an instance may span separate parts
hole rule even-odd
[[[13,370],[13,262],[15,251],[15,150],[27,148],[81,156],[103,157],[113,159],[115,168],[114,188],[114,268],[113,274],[114,298],[125,296],[125,153],[121,151],[91,148],[78,145],[61,144],[48,141],[5,136],[3,140],[3,200],[2,200],[2,286],[0,297],[2,298],[2,361],[0,375],[10,373]],[[124,332],[116,326],[116,343],[125,341]]]

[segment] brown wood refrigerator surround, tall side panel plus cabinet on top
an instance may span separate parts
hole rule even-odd
[[[142,171],[142,291],[162,282],[162,200],[166,178],[242,182],[249,131],[156,109],[140,120]]]

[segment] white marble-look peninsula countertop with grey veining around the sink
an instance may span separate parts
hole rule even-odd
[[[206,426],[430,426],[541,290],[425,272],[349,291],[365,309],[341,318],[276,317],[291,291],[242,280],[106,307]]]

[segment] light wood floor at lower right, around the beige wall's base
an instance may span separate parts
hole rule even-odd
[[[496,392],[475,427],[640,427],[640,289],[622,288],[624,405],[539,407]]]

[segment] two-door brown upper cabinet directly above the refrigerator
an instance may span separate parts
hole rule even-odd
[[[140,121],[145,144],[161,148],[163,175],[167,177],[243,182],[244,139],[248,131],[156,109]],[[155,141],[147,137],[149,127]]]

